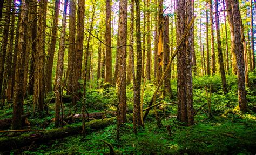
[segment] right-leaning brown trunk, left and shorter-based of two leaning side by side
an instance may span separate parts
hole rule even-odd
[[[52,24],[52,32],[51,32],[51,43],[48,48],[48,60],[45,66],[45,93],[52,92],[52,65],[53,65],[53,58],[55,53],[55,45],[57,39],[57,29],[58,29],[58,17],[59,17],[59,6],[60,1],[55,0],[55,9],[54,9],[54,17],[53,17],[53,24]]]

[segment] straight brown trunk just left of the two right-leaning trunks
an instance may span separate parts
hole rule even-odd
[[[35,84],[34,84],[34,105],[38,106],[39,113],[44,109],[44,53],[45,53],[45,28],[46,28],[46,12],[47,0],[41,0],[39,8],[39,25],[38,25],[38,45],[35,55]]]

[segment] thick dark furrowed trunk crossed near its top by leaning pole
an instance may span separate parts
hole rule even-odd
[[[181,41],[186,25],[191,20],[191,0],[185,3],[183,0],[177,1],[177,43]],[[191,31],[188,38],[192,35]],[[180,122],[194,124],[193,96],[192,96],[192,54],[189,50],[191,43],[185,39],[178,52],[178,115]]]

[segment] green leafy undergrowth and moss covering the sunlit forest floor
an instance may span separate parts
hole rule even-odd
[[[133,133],[131,121],[124,124],[117,140],[116,122],[104,129],[86,134],[78,134],[62,139],[51,140],[43,144],[28,144],[28,146],[3,152],[6,154],[107,154],[110,152],[102,140],[111,144],[116,153],[122,154],[255,154],[256,153],[256,73],[250,73],[250,88],[247,89],[247,101],[250,111],[243,113],[237,110],[237,78],[227,76],[229,92],[224,95],[221,91],[220,76],[205,76],[193,78],[194,110],[200,109],[207,103],[205,86],[208,95],[211,85],[211,112],[208,117],[208,105],[203,106],[195,116],[196,124],[191,127],[184,126],[176,120],[177,104],[159,107],[163,127],[158,127],[153,116],[148,116],[145,129],[140,129],[138,134]],[[177,80],[172,80],[172,90],[177,96]],[[155,87],[147,83],[144,92],[144,103],[148,103]],[[49,95],[51,98],[53,95]],[[31,100],[28,97],[28,101]],[[127,86],[128,111],[132,110],[133,91],[132,85]],[[25,102],[25,113],[32,113],[33,106]],[[86,105],[89,113],[116,110],[116,89],[89,89]],[[158,96],[157,102],[172,103],[173,99]],[[146,107],[146,105],[145,105]],[[49,114],[41,117],[28,116],[31,129],[52,129],[54,127],[55,104],[49,104]],[[63,104],[65,114],[80,113],[81,104],[76,107],[67,102]],[[75,112],[76,111],[76,112]],[[11,104],[0,110],[0,118],[10,118],[12,115]],[[110,117],[110,116],[109,116]],[[81,124],[81,119],[75,123]],[[68,125],[68,123],[66,123]],[[171,133],[166,129],[170,125]],[[14,133],[11,133],[13,135]],[[15,133],[19,134],[19,133]],[[1,137],[10,134],[0,133]],[[1,154],[1,150],[0,150]]]

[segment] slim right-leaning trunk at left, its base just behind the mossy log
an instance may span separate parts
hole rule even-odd
[[[59,41],[59,52],[58,52],[58,62],[55,77],[55,127],[60,125],[60,104],[62,103],[62,91],[60,85],[62,85],[62,74],[63,74],[63,63],[64,63],[64,53],[65,53],[65,29],[66,29],[66,9],[68,7],[68,0],[64,2],[63,18],[62,18],[62,32],[60,33]]]

